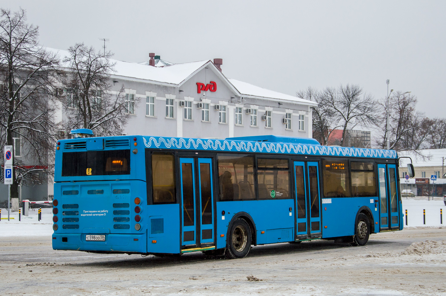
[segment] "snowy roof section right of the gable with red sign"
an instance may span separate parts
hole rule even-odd
[[[262,87],[249,84],[247,82],[238,81],[232,78],[228,78],[229,82],[235,86],[235,88],[242,93],[244,96],[248,97],[264,97],[264,98],[273,98],[287,101],[295,101],[305,105],[318,105],[318,103],[314,101],[309,101],[302,99],[300,97],[291,96],[285,93],[279,93],[274,90],[264,89]]]

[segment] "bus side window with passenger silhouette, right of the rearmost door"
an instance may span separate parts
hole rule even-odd
[[[219,155],[217,159],[219,200],[254,199],[254,157]]]

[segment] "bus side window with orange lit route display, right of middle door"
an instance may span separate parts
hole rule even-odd
[[[350,197],[350,175],[348,161],[322,160],[324,197]]]

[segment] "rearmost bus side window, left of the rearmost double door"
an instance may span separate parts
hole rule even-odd
[[[172,154],[152,154],[153,203],[176,203],[175,158]]]

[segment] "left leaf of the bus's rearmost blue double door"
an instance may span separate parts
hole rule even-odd
[[[182,245],[196,245],[194,158],[180,158]]]

